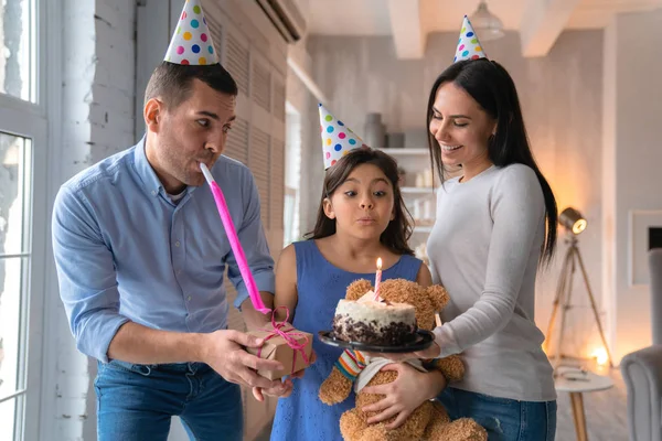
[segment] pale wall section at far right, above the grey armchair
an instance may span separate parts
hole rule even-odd
[[[606,30],[602,271],[617,358],[651,343],[649,287],[632,284],[628,268],[631,212],[662,209],[660,23],[662,10],[620,14]]]

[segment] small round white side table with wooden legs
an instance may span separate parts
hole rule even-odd
[[[578,367],[559,366],[555,372],[554,386],[557,391],[569,392],[577,441],[587,441],[586,415],[581,394],[609,389],[613,387],[613,380]]]

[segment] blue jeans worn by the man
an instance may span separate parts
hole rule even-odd
[[[241,441],[242,392],[202,363],[99,363],[98,441],[166,441],[172,416],[191,440]]]

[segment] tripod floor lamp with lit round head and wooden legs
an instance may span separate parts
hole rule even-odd
[[[552,316],[549,318],[547,333],[545,334],[545,352],[547,354],[549,353],[548,351],[551,341],[554,337],[554,326],[557,320],[557,315],[559,315],[558,319],[560,320],[560,324],[558,330],[558,341],[556,344],[556,352],[554,354],[553,361],[553,366],[556,370],[556,368],[560,364],[562,358],[566,357],[566,355],[563,353],[563,338],[566,324],[566,313],[568,310],[572,309],[570,300],[573,294],[573,279],[577,267],[579,267],[584,284],[586,287],[586,292],[588,293],[588,299],[590,301],[590,308],[592,310],[592,314],[598,326],[598,332],[600,333],[600,338],[602,340],[602,345],[605,346],[605,351],[607,353],[609,366],[613,367],[613,364],[611,362],[611,354],[609,353],[609,346],[607,345],[605,332],[602,331],[602,325],[600,323],[600,316],[598,314],[596,301],[590,289],[590,284],[588,282],[588,276],[586,273],[584,260],[581,259],[581,254],[579,252],[578,247],[579,241],[577,239],[577,235],[579,235],[586,229],[586,218],[584,218],[584,216],[581,216],[581,214],[577,209],[568,207],[564,209],[558,216],[558,223],[567,229],[567,236],[565,241],[566,244],[568,244],[568,249],[565,254],[563,266],[560,268],[558,284],[556,286],[556,297],[554,298],[554,308],[552,310]]]

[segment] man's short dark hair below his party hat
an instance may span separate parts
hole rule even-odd
[[[223,94],[238,93],[234,78],[221,64],[192,66],[162,62],[149,78],[145,103],[158,97],[166,108],[177,108],[191,95],[194,78]]]

